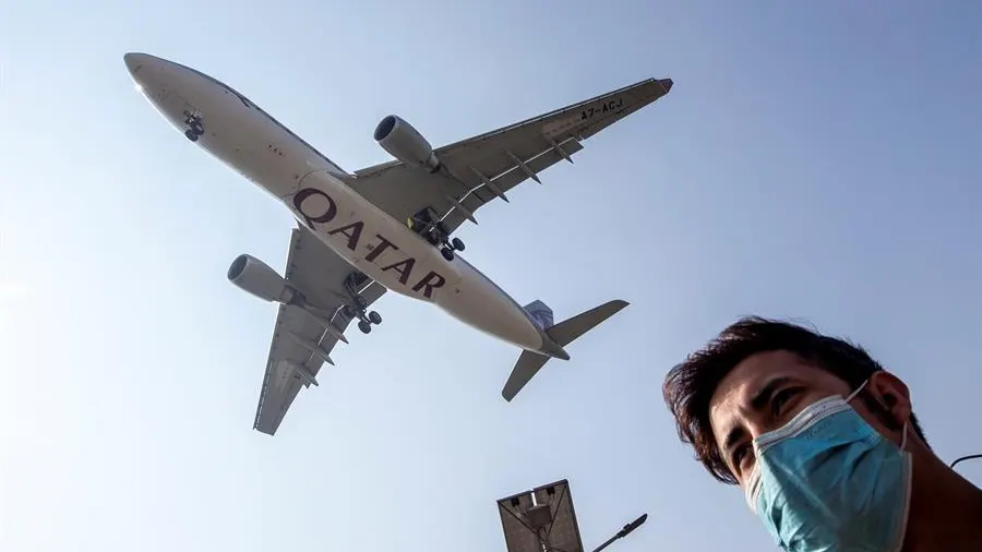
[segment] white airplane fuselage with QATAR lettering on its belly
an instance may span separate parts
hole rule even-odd
[[[342,181],[346,175],[231,87],[144,53],[125,62],[157,110],[182,132],[187,113],[204,133],[196,144],[282,201],[328,248],[387,289],[436,304],[462,322],[526,350],[543,351],[529,314],[474,266],[440,251],[405,221]],[[549,352],[547,352],[549,353]]]

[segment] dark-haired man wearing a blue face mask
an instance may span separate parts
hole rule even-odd
[[[747,317],[674,367],[679,435],[788,551],[982,551],[982,490],[931,449],[866,351]]]

